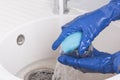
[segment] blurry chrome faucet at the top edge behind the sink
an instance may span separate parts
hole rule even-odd
[[[53,12],[55,14],[66,14],[69,12],[67,6],[68,0],[54,0]]]

